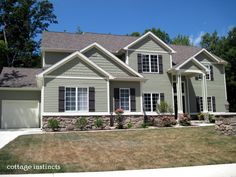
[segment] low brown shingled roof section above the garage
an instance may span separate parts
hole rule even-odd
[[[3,67],[0,74],[0,87],[37,87],[36,75],[41,68]]]

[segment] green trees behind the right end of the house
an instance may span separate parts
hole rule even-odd
[[[202,36],[201,47],[228,62],[226,66],[226,83],[230,111],[236,111],[236,27],[226,36],[220,37],[217,32]]]

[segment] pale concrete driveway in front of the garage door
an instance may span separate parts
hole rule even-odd
[[[42,134],[40,128],[0,129],[0,149],[20,135]]]

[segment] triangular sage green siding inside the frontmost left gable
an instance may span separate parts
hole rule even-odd
[[[48,75],[53,76],[74,76],[74,77],[102,77],[94,68],[81,61],[79,58],[74,58],[68,61],[61,67],[52,71]]]

